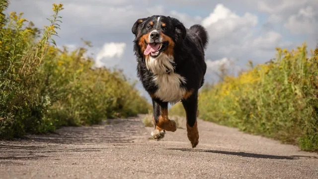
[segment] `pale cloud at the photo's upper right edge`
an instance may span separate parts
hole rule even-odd
[[[284,26],[294,34],[314,34],[318,31],[318,12],[312,6],[291,15]]]

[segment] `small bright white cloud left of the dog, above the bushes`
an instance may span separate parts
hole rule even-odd
[[[118,60],[123,56],[125,48],[126,43],[105,43],[96,55],[95,66],[102,67],[118,64]],[[106,60],[106,62],[102,62],[102,60]]]

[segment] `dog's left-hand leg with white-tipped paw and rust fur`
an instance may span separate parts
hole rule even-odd
[[[153,99],[155,130],[152,136],[159,140],[164,137],[165,130],[174,132],[177,127],[174,120],[168,119],[168,103]]]

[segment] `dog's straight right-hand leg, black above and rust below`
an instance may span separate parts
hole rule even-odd
[[[197,124],[198,91],[194,91],[188,98],[182,100],[187,118],[187,135],[192,147],[199,143],[199,131]]]

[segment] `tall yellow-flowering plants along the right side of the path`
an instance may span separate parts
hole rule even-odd
[[[318,151],[318,49],[277,48],[267,64],[202,90],[200,117]],[[184,115],[182,105],[171,113]]]

